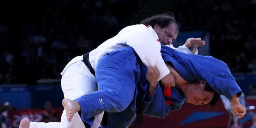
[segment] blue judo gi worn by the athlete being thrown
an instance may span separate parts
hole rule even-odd
[[[205,80],[228,99],[242,91],[231,75],[228,66],[212,56],[184,54],[164,45],[162,57],[188,82]],[[124,47],[106,54],[96,68],[98,91],[84,95],[75,101],[81,106],[82,120],[92,126],[94,116],[108,112],[108,128],[128,128],[135,118],[135,99],[138,90],[147,94],[147,67],[140,66],[134,50]],[[140,85],[137,86],[138,81]],[[164,97],[164,86],[158,83],[150,101],[143,103],[143,114],[164,118],[168,112],[179,110],[185,102],[184,93],[177,85],[171,89],[171,97]],[[166,100],[172,104],[166,105]]]

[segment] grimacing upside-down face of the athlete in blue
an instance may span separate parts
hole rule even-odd
[[[213,92],[205,91],[205,82],[191,83],[185,90],[186,102],[194,105],[205,105],[212,101]]]

